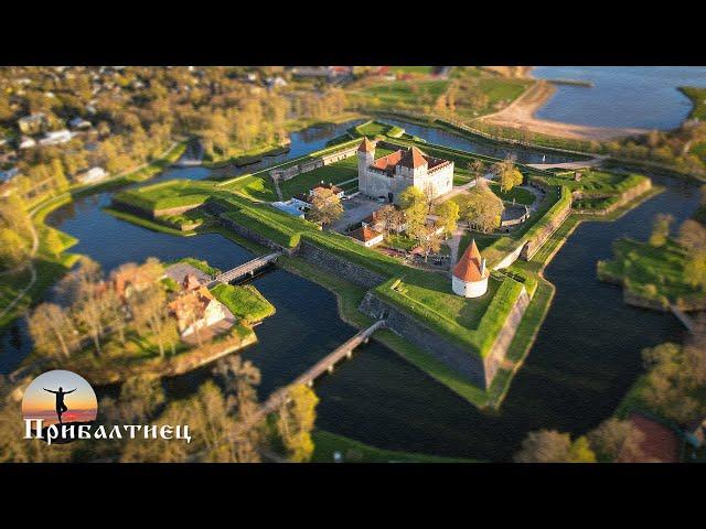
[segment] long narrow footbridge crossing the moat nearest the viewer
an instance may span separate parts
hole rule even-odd
[[[332,353],[321,358],[312,367],[307,369],[302,375],[290,385],[274,391],[269,398],[260,406],[256,413],[253,414],[247,424],[243,424],[240,428],[250,429],[255,424],[258,424],[267,415],[276,411],[280,406],[289,401],[289,390],[296,386],[307,385],[312,386],[313,381],[325,373],[332,373],[334,366],[344,358],[351,358],[353,356],[353,349],[363,343],[367,343],[373,333],[386,325],[386,320],[381,319],[373,323],[370,327],[364,328],[355,336],[338,346]]]

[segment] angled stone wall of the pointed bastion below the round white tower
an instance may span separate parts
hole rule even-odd
[[[517,326],[528,304],[530,296],[523,289],[485,358],[480,358],[469,348],[451,343],[424,323],[381,300],[374,292],[365,294],[359,310],[372,317],[385,316],[387,319],[387,328],[395,334],[409,341],[445,366],[461,374],[474,386],[488,389],[505,358],[507,348],[515,336]]]

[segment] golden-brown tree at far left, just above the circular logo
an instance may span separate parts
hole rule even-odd
[[[29,327],[34,347],[44,355],[56,356],[61,350],[64,358],[68,358],[79,346],[78,333],[71,319],[54,303],[42,303],[34,309]]]

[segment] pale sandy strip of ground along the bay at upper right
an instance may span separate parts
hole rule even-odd
[[[645,129],[590,127],[587,125],[563,123],[560,121],[535,118],[535,112],[554,95],[555,90],[556,87],[552,83],[538,80],[510,106],[499,112],[483,116],[479,118],[479,121],[513,129],[526,128],[531,132],[577,140],[608,141],[614,138],[649,132]]]

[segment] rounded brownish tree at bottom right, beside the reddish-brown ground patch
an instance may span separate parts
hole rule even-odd
[[[637,462],[643,458],[641,445],[644,434],[630,421],[610,418],[589,432],[588,440],[601,462]]]

